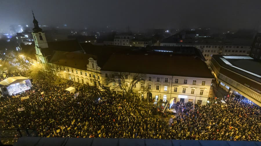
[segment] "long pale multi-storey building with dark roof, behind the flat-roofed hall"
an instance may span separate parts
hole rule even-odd
[[[206,64],[210,65],[212,55],[249,55],[253,40],[181,39],[173,35],[164,39],[160,46],[192,46],[202,51]]]

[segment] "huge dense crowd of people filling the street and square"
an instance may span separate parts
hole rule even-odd
[[[171,122],[158,115],[156,104],[142,106],[97,87],[33,83],[18,98],[0,102],[1,129],[36,129],[41,137],[157,138],[260,141],[260,110],[238,98],[226,106],[177,103]],[[41,92],[44,92],[41,94]],[[20,97],[29,96],[21,100]],[[23,108],[18,111],[18,108]]]

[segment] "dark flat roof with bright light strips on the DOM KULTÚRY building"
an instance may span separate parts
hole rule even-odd
[[[261,60],[246,55],[213,55],[222,67],[261,83]]]

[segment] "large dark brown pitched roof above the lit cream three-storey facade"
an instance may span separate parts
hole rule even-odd
[[[120,60],[120,61],[119,61]],[[206,63],[194,55],[113,54],[102,67],[104,71],[213,78]]]

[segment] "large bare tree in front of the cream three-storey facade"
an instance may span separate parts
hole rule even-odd
[[[114,78],[113,76],[108,77],[106,78],[105,82],[107,82],[108,85],[116,85],[115,89],[120,88],[122,91],[124,91],[125,96],[130,99],[132,96],[135,96],[134,88],[136,88],[137,83],[143,84],[143,87],[140,87],[140,89],[142,89],[143,93],[144,91],[146,92],[147,87],[144,86],[144,77],[144,74],[119,72],[118,78]]]

